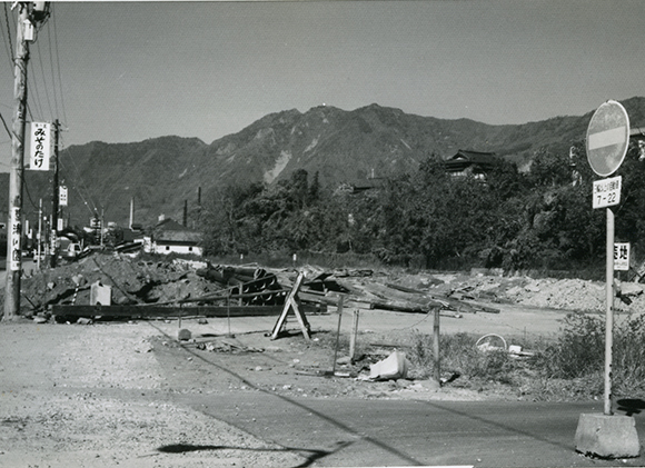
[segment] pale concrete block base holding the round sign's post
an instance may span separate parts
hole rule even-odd
[[[638,457],[636,421],[631,416],[583,414],[576,430],[576,451],[601,458]]]

